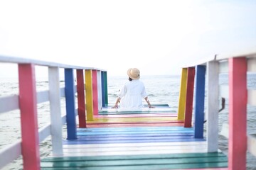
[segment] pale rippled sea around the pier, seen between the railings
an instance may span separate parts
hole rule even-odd
[[[126,76],[107,77],[108,101],[109,106],[114,106],[119,89],[122,88]],[[178,96],[180,91],[181,77],[179,75],[154,75],[141,76],[144,82],[146,93],[149,96],[151,104],[169,104],[171,113],[178,111]],[[228,76],[221,74],[219,79],[220,85],[228,85]],[[63,78],[60,78],[60,86],[64,86]],[[207,84],[206,84],[207,86]],[[247,74],[247,88],[256,89],[256,74]],[[46,78],[36,79],[36,90],[48,90],[48,80]],[[207,89],[206,89],[207,91]],[[0,78],[0,97],[18,94],[18,79],[1,79]],[[207,94],[206,94],[207,95]],[[206,102],[206,101],[205,101]],[[146,104],[146,103],[145,103]],[[205,103],[206,104],[206,103]],[[65,108],[65,98],[61,99],[62,114]],[[38,128],[42,128],[50,121],[49,103],[38,104]],[[228,123],[228,99],[225,100],[225,108],[219,113],[219,131],[223,123]],[[206,127],[204,135],[206,135]],[[256,107],[247,106],[247,135],[256,136]],[[63,139],[66,137],[66,127],[63,126]],[[18,110],[0,115],[0,149],[6,145],[21,139],[20,112]],[[219,135],[219,149],[228,155],[228,139]],[[51,152],[50,137],[40,143],[41,157],[47,157]],[[22,169],[22,159],[19,157],[11,162],[4,169]],[[256,157],[247,152],[247,169],[256,170]]]

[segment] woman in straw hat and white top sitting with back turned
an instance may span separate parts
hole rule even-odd
[[[122,86],[117,101],[112,108],[118,108],[118,103],[120,103],[120,108],[143,108],[142,98],[145,99],[149,108],[154,108],[149,102],[144,83],[139,81],[139,74],[137,68],[128,69],[129,81]]]

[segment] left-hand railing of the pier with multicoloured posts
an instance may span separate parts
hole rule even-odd
[[[93,114],[93,112],[97,113],[98,109],[102,109],[103,106],[105,106],[105,102],[102,102],[102,97],[106,98],[107,94],[105,94],[105,89],[107,86],[102,85],[105,84],[107,81],[107,72],[105,69],[97,69],[95,67],[80,67],[75,65],[68,65],[68,64],[60,64],[55,62],[44,62],[40,60],[31,60],[31,59],[25,59],[20,57],[8,57],[8,56],[1,56],[0,55],[0,63],[14,63],[18,64],[18,82],[19,82],[19,89],[21,94],[15,94],[11,96],[1,96],[0,97],[0,116],[1,113],[6,113],[9,111],[14,111],[17,109],[21,110],[21,139],[17,142],[14,142],[13,144],[6,145],[3,149],[0,149],[0,169],[7,164],[9,164],[14,159],[17,159],[21,154],[23,154],[23,169],[40,169],[40,154],[39,153],[39,146],[38,143],[42,142],[46,139],[49,135],[52,136],[52,146],[53,146],[53,154],[54,155],[61,155],[63,154],[63,147],[62,147],[62,126],[67,123],[67,130],[72,130],[76,128],[76,123],[70,122],[70,118],[75,118],[77,115],[83,115],[81,118],[85,118],[85,109],[78,108],[66,108],[69,109],[69,111],[65,111],[65,115],[61,115],[61,108],[60,108],[60,100],[61,98],[65,98],[66,106],[71,103],[75,103],[75,100],[78,100],[78,102],[81,100],[79,97],[80,95],[85,96],[85,81],[83,80],[83,77],[85,77],[85,71],[92,70],[92,72],[95,72],[97,74],[87,74],[87,79],[92,79],[93,86],[88,86],[90,91],[97,91],[97,93],[92,94],[91,96],[87,95],[87,98],[97,98],[98,101],[95,101],[91,103],[93,106],[90,106],[91,108],[94,108],[95,111],[87,111],[87,116],[90,116]],[[36,89],[36,72],[34,71],[35,66],[43,66],[48,67],[48,84],[49,84],[49,90],[47,91],[36,91],[33,94],[33,89]],[[65,87],[60,87],[60,79],[59,79],[59,69],[63,68],[65,69]],[[75,83],[75,79],[73,76],[69,76],[74,74],[74,69],[80,72],[80,75],[82,77],[77,77],[78,84]],[[67,72],[66,72],[67,71]],[[66,74],[69,75],[66,75]],[[78,74],[78,72],[77,72]],[[70,79],[71,78],[71,79]],[[24,80],[28,80],[28,84],[23,84]],[[102,81],[101,81],[102,80]],[[73,81],[71,84],[72,86],[67,86],[67,81]],[[69,83],[69,82],[68,82]],[[26,86],[30,86],[29,89]],[[77,88],[78,85],[80,86],[78,99],[71,97],[75,96],[75,93],[78,92]],[[83,88],[81,88],[83,87]],[[30,89],[31,88],[31,89]],[[70,89],[71,88],[71,89]],[[93,88],[93,89],[92,89]],[[24,93],[23,91],[26,91]],[[70,94],[70,91],[72,91],[72,94]],[[68,96],[67,96],[68,93]],[[23,101],[23,98],[28,96],[31,96],[32,98],[26,99],[26,101]],[[35,95],[36,98],[33,99],[33,95]],[[97,95],[97,96],[93,96]],[[32,100],[32,101],[29,101]],[[29,101],[30,103],[26,103]],[[40,128],[38,130],[31,130],[32,127],[37,126],[37,104],[43,103],[43,102],[50,102],[50,123],[43,126],[43,128]],[[81,102],[79,102],[81,105]],[[82,105],[85,106],[85,101]],[[27,105],[27,106],[24,106]],[[33,106],[36,105],[36,106]],[[88,103],[87,103],[88,105]],[[32,110],[28,110],[32,108]],[[33,110],[33,108],[36,108],[36,110]],[[26,109],[26,111],[23,111],[23,109]],[[29,114],[29,115],[28,115]],[[27,118],[26,118],[27,117]],[[33,117],[35,117],[33,119]],[[32,119],[31,119],[32,118]],[[80,118],[80,116],[79,116]],[[26,121],[29,121],[27,123]],[[75,120],[73,120],[75,121]],[[86,120],[81,120],[80,122],[85,122]],[[86,125],[86,123],[85,123]],[[26,132],[23,132],[26,130]],[[29,132],[29,131],[33,132]],[[24,136],[25,134],[25,136]],[[32,134],[26,135],[26,134]],[[29,139],[31,138],[31,139]],[[21,142],[22,141],[22,142]],[[32,142],[31,142],[32,141]],[[38,142],[36,142],[38,141]],[[29,145],[28,143],[29,142]],[[33,147],[33,149],[29,149],[28,147]],[[23,150],[23,153],[21,153],[21,149]],[[27,152],[29,150],[33,150],[33,152]],[[24,152],[25,151],[25,152]]]

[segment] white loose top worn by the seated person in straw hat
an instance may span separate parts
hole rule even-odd
[[[120,108],[143,108],[142,98],[147,96],[144,83],[138,80],[127,81],[119,92]]]

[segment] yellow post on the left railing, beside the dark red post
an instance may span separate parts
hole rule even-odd
[[[93,120],[93,103],[92,103],[92,70],[85,70],[85,103],[86,103],[86,120]]]

